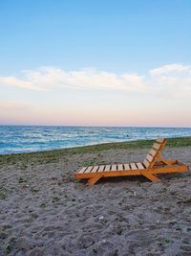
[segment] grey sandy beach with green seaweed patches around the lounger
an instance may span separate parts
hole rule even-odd
[[[0,255],[191,255],[190,171],[74,180],[81,166],[143,161],[152,143],[0,156]],[[163,155],[191,166],[191,139]]]

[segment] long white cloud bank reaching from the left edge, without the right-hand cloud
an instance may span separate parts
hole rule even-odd
[[[20,78],[0,77],[0,83],[31,90],[71,89],[111,89],[141,91],[146,88],[143,77],[125,73],[117,75],[96,69],[65,71],[54,67],[41,67],[22,72]]]

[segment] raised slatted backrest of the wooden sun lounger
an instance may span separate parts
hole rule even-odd
[[[143,164],[146,168],[152,168],[155,164],[156,159],[159,157],[160,152],[166,145],[166,139],[159,138],[154,143],[152,149],[147,154],[146,158],[143,161]]]

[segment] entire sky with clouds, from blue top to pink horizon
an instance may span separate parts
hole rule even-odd
[[[191,127],[190,0],[0,0],[0,125]]]

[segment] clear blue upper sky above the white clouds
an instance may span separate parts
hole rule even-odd
[[[191,2],[0,1],[0,70],[36,66],[144,72],[190,62]]]

